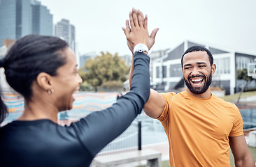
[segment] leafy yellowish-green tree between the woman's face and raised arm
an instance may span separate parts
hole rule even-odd
[[[112,55],[108,52],[101,52],[101,56],[94,59],[89,58],[85,63],[85,70],[87,71],[81,77],[91,84],[95,91],[106,81],[124,82],[129,74],[129,67],[125,65],[125,61],[118,54]]]

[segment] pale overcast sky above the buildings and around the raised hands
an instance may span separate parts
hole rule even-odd
[[[96,51],[130,54],[121,27],[132,7],[158,27],[152,51],[174,48],[184,40],[256,54],[255,0],[41,0],[54,15],[76,26],[77,54]]]

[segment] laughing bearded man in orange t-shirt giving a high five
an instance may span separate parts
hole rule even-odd
[[[124,31],[129,31],[129,23]],[[150,36],[148,48],[155,42],[156,32]],[[236,166],[255,166],[243,136],[239,109],[211,93],[216,70],[211,52],[192,46],[183,54],[181,65],[186,90],[178,94],[150,90],[143,109],[162,122],[169,139],[171,166],[230,166],[229,145]]]

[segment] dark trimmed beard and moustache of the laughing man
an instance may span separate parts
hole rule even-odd
[[[196,95],[199,95],[199,94],[202,94],[202,93],[205,93],[206,90],[209,88],[209,86],[211,85],[211,79],[212,79],[212,74],[209,75],[209,77],[205,77],[204,75],[197,75],[195,77],[204,77],[204,86],[202,87],[193,87],[191,84],[190,84],[190,78],[194,78],[194,77],[188,77],[188,81],[183,77],[184,81],[185,81],[185,84],[187,86],[187,88],[190,90],[190,92],[196,94]]]

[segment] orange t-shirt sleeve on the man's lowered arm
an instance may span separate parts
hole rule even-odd
[[[230,132],[229,136],[241,136],[243,135],[243,118],[237,106],[234,105],[234,110],[236,112],[236,118],[234,119],[234,126],[232,131]]]

